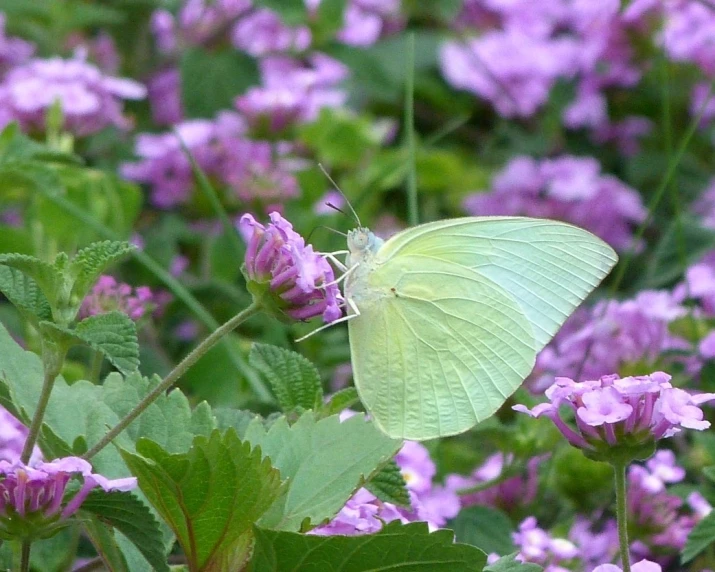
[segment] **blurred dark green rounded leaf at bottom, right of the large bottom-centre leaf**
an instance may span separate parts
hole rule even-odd
[[[457,542],[481,548],[487,554],[509,554],[514,551],[511,538],[513,525],[500,510],[486,506],[470,506],[462,509],[449,523]]]

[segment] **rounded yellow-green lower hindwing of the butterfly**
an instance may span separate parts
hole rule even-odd
[[[348,322],[355,385],[388,435],[432,439],[494,413],[529,374],[533,331],[489,278],[419,255],[400,256],[351,283]]]

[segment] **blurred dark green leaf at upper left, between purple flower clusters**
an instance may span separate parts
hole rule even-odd
[[[232,107],[234,98],[259,80],[256,61],[234,48],[188,48],[179,69],[181,101],[190,118],[210,118]]]

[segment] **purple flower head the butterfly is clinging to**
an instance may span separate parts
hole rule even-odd
[[[250,214],[239,228],[248,248],[243,267],[249,289],[276,316],[333,322],[342,315],[342,297],[333,269],[278,213],[263,226]]]

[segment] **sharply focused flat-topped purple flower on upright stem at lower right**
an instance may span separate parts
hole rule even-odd
[[[715,399],[715,393],[691,395],[669,381],[670,376],[663,372],[624,378],[606,375],[580,383],[557,377],[546,390],[551,403],[531,410],[523,405],[513,409],[532,417],[548,417],[571,445],[598,460],[608,461],[616,450],[638,458],[658,439],[683,428],[710,426],[699,405]],[[575,414],[575,428],[562,416],[562,407]]]

